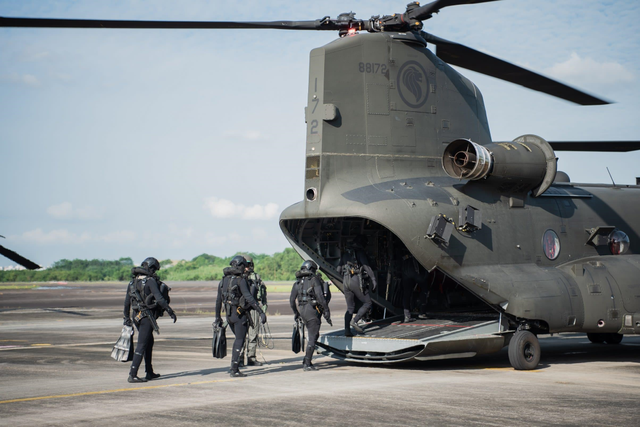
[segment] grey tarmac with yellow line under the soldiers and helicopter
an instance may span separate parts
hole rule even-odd
[[[211,355],[215,283],[171,287],[178,321],[159,319],[162,376],[144,384],[127,383],[129,364],[110,358],[126,284],[0,290],[0,425],[638,425],[640,336],[541,336],[534,371],[512,369],[505,348],[391,366],[316,356],[320,370],[304,372],[288,294],[272,293],[266,364],[230,378],[230,356]],[[331,309],[339,327],[339,293]],[[321,332],[335,329],[323,322]]]

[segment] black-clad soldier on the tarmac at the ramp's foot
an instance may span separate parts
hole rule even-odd
[[[324,316],[327,323],[331,326],[331,313],[329,305],[324,299],[322,290],[322,282],[316,275],[318,265],[313,261],[305,261],[302,263],[300,270],[296,272],[296,283],[291,288],[291,296],[289,297],[289,305],[293,310],[294,319],[302,318],[307,331],[309,332],[307,339],[307,349],[305,352],[302,367],[305,371],[317,371],[318,368],[313,366],[311,358],[316,348],[316,342],[320,336],[320,316]],[[298,306],[296,307],[296,299]]]

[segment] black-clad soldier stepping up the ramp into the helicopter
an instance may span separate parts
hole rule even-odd
[[[378,286],[376,276],[369,266],[369,260],[365,254],[364,247],[367,244],[365,236],[356,236],[353,245],[343,251],[338,266],[338,273],[343,275],[343,291],[347,300],[347,312],[344,314],[344,334],[352,337],[351,327],[356,332],[362,334],[364,329],[358,325],[358,321],[371,308],[371,296],[369,291],[375,291]],[[369,289],[369,285],[371,289]],[[362,302],[362,307],[353,317],[356,308],[355,298]]]

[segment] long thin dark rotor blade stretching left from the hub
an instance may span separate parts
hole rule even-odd
[[[345,23],[346,24],[346,23]],[[330,19],[316,21],[125,21],[105,19],[55,19],[55,18],[5,18],[0,17],[0,27],[23,28],[126,28],[126,29],[251,29],[277,30],[336,30],[342,25]]]

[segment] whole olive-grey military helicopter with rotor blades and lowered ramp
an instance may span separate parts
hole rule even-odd
[[[516,369],[534,369],[539,334],[584,332],[616,344],[640,333],[640,187],[571,183],[555,155],[640,142],[492,141],[479,89],[449,64],[580,105],[607,101],[423,30],[445,7],[488,1],[411,3],[368,20],[0,18],[0,26],[337,31],[310,54],[304,195],[280,226],[340,289],[341,255],[366,236],[379,286],[365,335],[326,334],[322,351],[396,363],[508,345]],[[410,324],[396,317],[404,264],[427,317]]]

